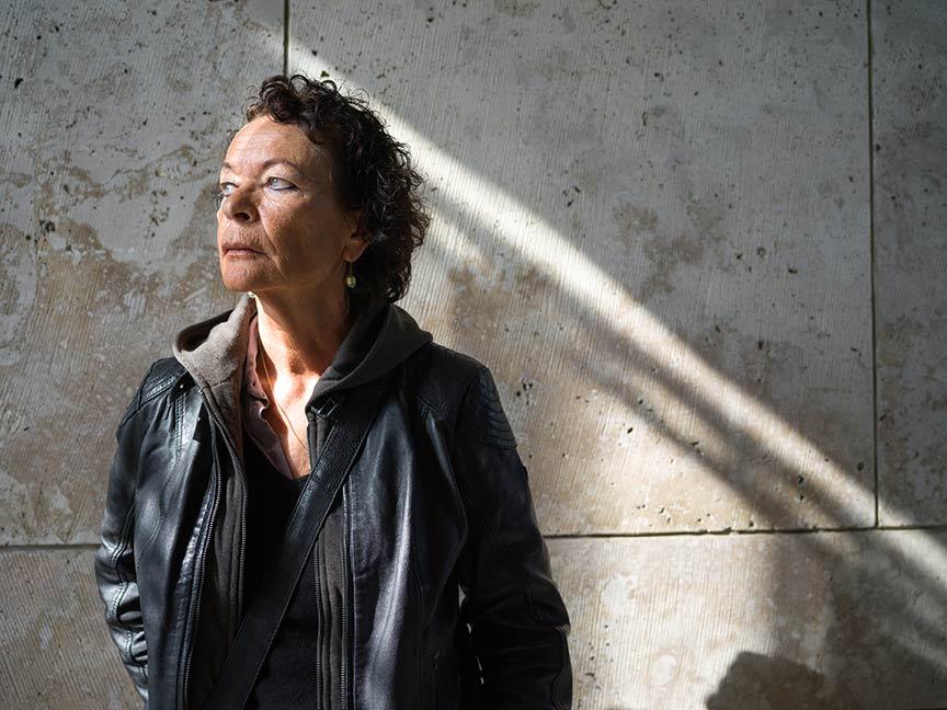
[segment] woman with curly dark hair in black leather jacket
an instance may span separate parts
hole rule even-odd
[[[178,334],[116,432],[95,574],[146,706],[569,707],[490,370],[395,306],[427,227],[406,148],[298,75],[246,118],[217,211],[242,296]]]

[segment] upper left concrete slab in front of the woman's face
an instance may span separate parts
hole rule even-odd
[[[95,539],[147,365],[232,300],[212,196],[282,67],[267,4],[0,9],[0,543]]]

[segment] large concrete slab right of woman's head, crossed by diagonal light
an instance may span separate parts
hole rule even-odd
[[[863,2],[293,2],[289,35],[429,175],[407,304],[494,369],[546,529],[874,523]]]

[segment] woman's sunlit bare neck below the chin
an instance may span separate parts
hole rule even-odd
[[[352,328],[345,291],[331,298],[256,295],[256,328],[260,344],[277,373],[292,379],[316,379],[332,364],[339,346]]]

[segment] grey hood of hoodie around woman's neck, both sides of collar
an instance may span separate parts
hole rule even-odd
[[[238,451],[242,451],[240,396],[247,339],[255,314],[256,300],[243,294],[232,310],[189,325],[178,333],[173,344],[174,357],[204,392]],[[317,406],[332,392],[384,375],[431,340],[431,333],[399,306],[362,308],[332,364],[312,388],[306,409]]]

